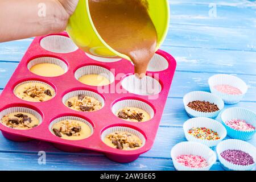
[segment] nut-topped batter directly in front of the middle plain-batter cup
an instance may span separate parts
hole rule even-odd
[[[100,110],[102,104],[100,101],[96,100],[93,97],[85,96],[85,94],[79,94],[77,97],[71,97],[66,102],[65,105],[70,109],[90,112]]]

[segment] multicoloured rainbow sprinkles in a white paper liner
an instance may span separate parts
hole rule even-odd
[[[218,140],[220,137],[216,131],[208,129],[206,127],[193,127],[188,130],[188,134],[192,135],[195,138],[203,140]]]

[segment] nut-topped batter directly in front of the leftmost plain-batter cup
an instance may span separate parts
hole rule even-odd
[[[22,100],[30,102],[48,101],[55,95],[54,90],[40,82],[27,82],[17,86],[15,95]]]

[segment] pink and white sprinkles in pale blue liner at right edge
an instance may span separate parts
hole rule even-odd
[[[242,119],[231,119],[229,121],[226,121],[226,125],[228,125],[232,129],[240,130],[240,131],[253,131],[253,130],[255,130],[255,127],[253,125],[250,125],[249,123],[246,123],[246,121],[242,120]]]

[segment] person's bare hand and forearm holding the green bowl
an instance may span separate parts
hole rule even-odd
[[[5,27],[0,28],[0,42],[64,31],[78,2],[79,0],[0,0],[0,27]]]

